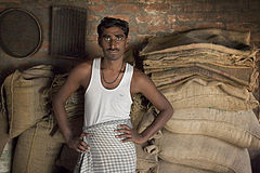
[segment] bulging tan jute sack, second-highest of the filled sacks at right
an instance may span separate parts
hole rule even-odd
[[[172,133],[207,135],[243,148],[260,148],[260,124],[252,110],[174,109],[165,129]]]

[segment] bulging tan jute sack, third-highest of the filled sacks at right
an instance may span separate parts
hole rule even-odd
[[[247,149],[214,137],[162,131],[157,139],[159,158],[178,164],[219,173],[251,173]]]

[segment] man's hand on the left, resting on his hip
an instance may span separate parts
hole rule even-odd
[[[87,152],[90,150],[89,145],[83,141],[84,136],[90,136],[89,133],[81,133],[79,137],[73,137],[67,142],[69,148],[78,152]]]

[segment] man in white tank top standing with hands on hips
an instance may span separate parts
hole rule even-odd
[[[55,117],[66,144],[81,152],[75,172],[135,172],[134,144],[145,143],[172,116],[166,97],[143,72],[123,63],[128,45],[128,23],[105,17],[98,27],[104,57],[82,63],[70,72],[53,99]],[[84,94],[83,133],[72,133],[64,109],[79,86]],[[132,130],[132,95],[142,93],[158,110],[154,122],[141,134]]]

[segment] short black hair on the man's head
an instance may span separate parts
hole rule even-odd
[[[109,28],[109,27],[121,28],[125,36],[128,37],[128,32],[129,32],[128,22],[119,19],[119,18],[104,17],[101,21],[100,25],[98,26],[99,38],[102,36],[104,28]]]

